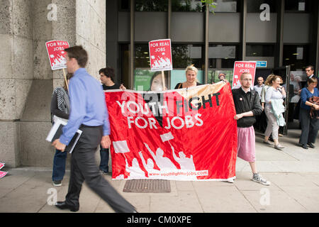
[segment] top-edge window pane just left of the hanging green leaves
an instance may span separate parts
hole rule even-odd
[[[201,0],[172,0],[173,12],[203,12]]]

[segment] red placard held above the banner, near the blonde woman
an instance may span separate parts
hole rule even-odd
[[[171,40],[152,40],[148,43],[150,49],[151,71],[173,70]]]

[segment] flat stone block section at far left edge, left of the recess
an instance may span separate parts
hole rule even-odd
[[[0,1],[0,161],[21,164],[20,123],[33,82],[33,34],[28,0]]]

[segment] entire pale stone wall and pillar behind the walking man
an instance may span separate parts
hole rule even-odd
[[[57,6],[56,21],[47,14]],[[89,73],[98,78],[106,64],[106,4],[99,0],[0,0],[0,161],[52,167],[50,101],[62,86],[52,72],[48,40],[67,40],[89,52]]]

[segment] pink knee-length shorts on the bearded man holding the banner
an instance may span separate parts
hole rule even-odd
[[[254,126],[237,128],[237,156],[247,162],[256,160]]]

